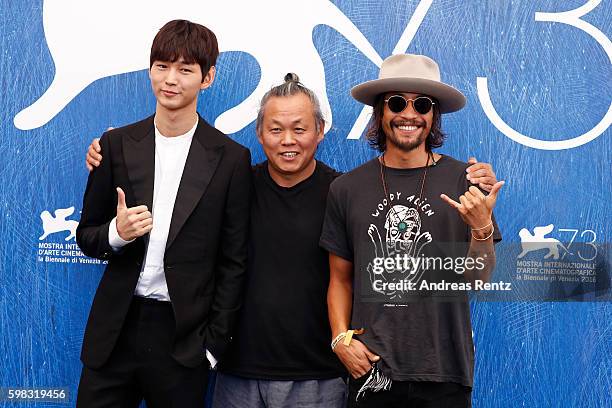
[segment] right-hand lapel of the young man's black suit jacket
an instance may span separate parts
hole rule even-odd
[[[216,139],[213,132],[213,129],[199,118],[174,202],[166,249],[172,245],[202,198],[223,156],[223,146],[212,143]]]

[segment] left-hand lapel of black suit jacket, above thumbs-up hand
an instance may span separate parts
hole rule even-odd
[[[123,160],[134,193],[134,203],[129,207],[146,205],[153,208],[153,182],[155,178],[155,128],[153,116],[144,120],[142,126],[121,138]]]

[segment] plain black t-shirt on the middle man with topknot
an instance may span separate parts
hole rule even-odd
[[[254,167],[251,239],[244,304],[223,372],[262,380],[346,375],[329,346],[328,253],[319,247],[329,185],[338,172],[315,172],[285,188],[268,163]]]

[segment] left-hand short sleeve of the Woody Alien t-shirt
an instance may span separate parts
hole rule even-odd
[[[342,199],[341,189],[334,181],[329,189],[325,220],[319,246],[347,261],[353,262],[353,250],[349,244],[347,231],[346,200]]]

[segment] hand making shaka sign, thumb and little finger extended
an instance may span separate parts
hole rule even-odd
[[[498,181],[486,196],[478,188],[471,186],[465,194],[459,197],[459,202],[449,198],[446,194],[440,194],[440,198],[459,212],[463,221],[472,228],[472,233],[487,236],[491,229],[483,227],[491,224],[493,208],[495,208],[497,195],[503,185],[503,181]]]

